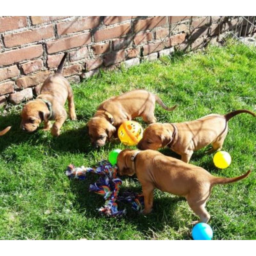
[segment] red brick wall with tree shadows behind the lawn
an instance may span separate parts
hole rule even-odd
[[[129,67],[175,49],[217,43],[237,22],[225,16],[0,17],[0,105],[37,95],[63,52],[63,75],[79,82],[99,68]]]

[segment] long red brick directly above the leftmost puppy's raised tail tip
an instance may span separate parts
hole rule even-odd
[[[64,50],[80,47],[84,44],[91,43],[91,33],[83,33],[77,36],[71,36],[59,40],[55,40],[52,42],[48,42],[46,44],[47,52],[54,53],[54,52],[61,52]]]

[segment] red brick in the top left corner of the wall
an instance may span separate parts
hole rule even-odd
[[[27,26],[26,16],[11,16],[0,18],[0,32],[23,28]]]

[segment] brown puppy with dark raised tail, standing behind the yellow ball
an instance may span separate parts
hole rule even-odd
[[[174,124],[151,124],[143,133],[138,144],[139,149],[169,147],[181,155],[181,160],[188,163],[193,152],[212,144],[212,149],[220,150],[228,133],[228,120],[249,110],[235,110],[226,115],[211,114],[190,122]]]

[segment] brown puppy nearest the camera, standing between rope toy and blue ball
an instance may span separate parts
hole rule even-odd
[[[190,208],[200,218],[193,224],[209,221],[210,214],[205,210],[205,204],[214,185],[244,179],[251,172],[235,178],[218,178],[201,167],[164,156],[155,150],[125,149],[117,157],[117,166],[120,175],[136,173],[144,195],[144,214],[152,211],[153,192],[158,188],[187,199]]]

